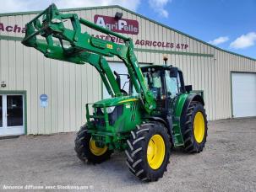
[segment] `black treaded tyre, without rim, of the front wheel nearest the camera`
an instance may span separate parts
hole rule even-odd
[[[165,144],[165,156],[157,169],[151,168],[147,160],[149,141],[155,135],[160,135]],[[143,181],[157,181],[162,178],[167,170],[171,151],[170,136],[166,127],[158,122],[137,125],[136,130],[131,131],[131,138],[127,142],[128,149],[125,153],[130,172]]]

